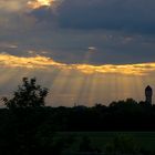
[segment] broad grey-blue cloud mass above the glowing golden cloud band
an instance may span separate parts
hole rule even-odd
[[[153,0],[63,0],[58,8],[29,11],[23,9],[28,0],[13,1],[20,4],[0,10],[0,42],[18,48],[0,46],[0,52],[21,56],[34,51],[62,63],[155,60],[155,38],[147,35],[155,31]],[[91,46],[96,50],[90,52]]]

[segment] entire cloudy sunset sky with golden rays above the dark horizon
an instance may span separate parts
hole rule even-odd
[[[0,96],[35,76],[50,90],[51,106],[144,101],[144,89],[155,90],[154,7],[154,0],[0,0]]]

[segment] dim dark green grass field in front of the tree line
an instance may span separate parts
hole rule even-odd
[[[104,149],[107,143],[110,143],[117,135],[125,135],[134,138],[134,142],[141,147],[155,151],[155,132],[60,132],[58,137],[73,137],[75,141],[69,151],[76,151],[81,138],[87,136],[93,146],[97,146]]]

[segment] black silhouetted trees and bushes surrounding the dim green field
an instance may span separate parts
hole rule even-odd
[[[89,135],[75,138],[73,134],[64,133],[155,131],[154,105],[128,99],[108,106],[48,107],[44,105],[46,95],[48,89],[37,85],[35,79],[25,78],[11,100],[2,99],[7,107],[0,110],[0,154],[155,154],[126,134],[103,142],[102,148],[102,145],[92,144]],[[64,134],[60,136],[60,133]],[[68,148],[72,148],[72,153],[66,152]]]

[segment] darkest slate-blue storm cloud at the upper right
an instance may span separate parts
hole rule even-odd
[[[154,7],[153,0],[64,0],[55,17],[61,28],[154,33]],[[34,14],[51,22],[53,12],[49,10],[40,8]]]

